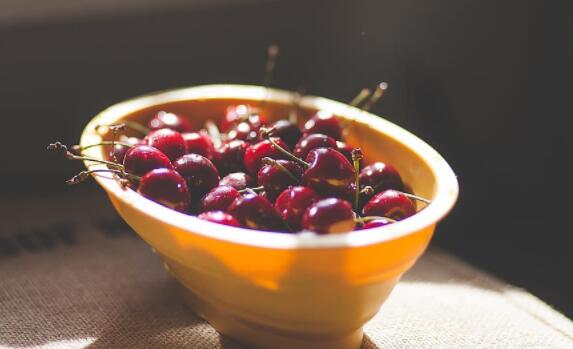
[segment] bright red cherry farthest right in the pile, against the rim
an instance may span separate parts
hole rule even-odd
[[[382,216],[401,220],[416,213],[416,206],[406,195],[397,190],[385,190],[376,194],[366,205],[365,216]]]

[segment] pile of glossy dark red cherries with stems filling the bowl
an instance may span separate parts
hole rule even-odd
[[[344,143],[341,121],[320,111],[300,128],[249,105],[229,106],[216,126],[193,130],[184,115],[160,111],[146,127],[107,127],[113,141],[106,160],[83,155],[88,147],[48,148],[69,159],[105,163],[68,181],[112,172],[126,187],[176,211],[210,222],[272,232],[344,233],[385,226],[416,213],[398,171],[365,166],[360,149]],[[120,134],[133,127],[143,138]],[[148,129],[148,131],[146,130]],[[119,139],[118,139],[119,136]],[[190,222],[190,224],[192,224]]]

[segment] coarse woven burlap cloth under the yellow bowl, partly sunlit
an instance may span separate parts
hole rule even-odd
[[[182,304],[101,195],[0,204],[0,348],[242,348]],[[364,349],[573,348],[573,323],[430,249],[365,328]]]

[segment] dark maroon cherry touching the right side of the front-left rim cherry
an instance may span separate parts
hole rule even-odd
[[[185,154],[173,163],[175,171],[185,178],[194,197],[202,197],[219,184],[219,171],[213,163],[198,154]]]

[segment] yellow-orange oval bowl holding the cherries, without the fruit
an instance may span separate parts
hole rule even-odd
[[[273,119],[285,118],[292,101],[290,92],[257,86],[158,92],[101,112],[86,126],[81,145],[109,139],[95,131],[97,125],[146,121],[158,110],[188,114],[201,126],[218,120],[231,103],[257,104]],[[436,223],[453,207],[458,184],[435,150],[380,117],[320,97],[303,97],[301,107],[348,121],[348,143],[360,146],[367,161],[394,164],[414,192],[432,203],[383,228],[330,236],[280,234],[202,221],[124,190],[109,176],[96,180],[183,286],[186,302],[219,332],[255,348],[359,348],[362,326],[424,252]],[[88,155],[103,158],[104,152],[91,148]]]

